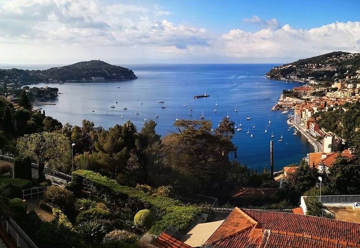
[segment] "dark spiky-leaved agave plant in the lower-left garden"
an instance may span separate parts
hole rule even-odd
[[[90,244],[100,243],[108,232],[110,222],[108,220],[85,221],[77,226],[77,231]]]

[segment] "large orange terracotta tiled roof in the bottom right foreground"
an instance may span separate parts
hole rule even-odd
[[[236,219],[238,225],[235,225]],[[360,224],[303,214],[235,208],[203,247],[360,247]]]

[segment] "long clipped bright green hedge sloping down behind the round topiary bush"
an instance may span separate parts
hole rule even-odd
[[[112,203],[121,204],[126,200],[135,200],[146,207],[151,207],[154,212],[163,213],[162,218],[155,222],[149,230],[155,235],[160,234],[170,225],[183,230],[193,221],[195,216],[201,213],[201,209],[198,207],[185,206],[179,200],[169,197],[147,195],[142,190],[120,185],[117,181],[93,171],[74,171],[72,181],[82,185],[93,195]]]

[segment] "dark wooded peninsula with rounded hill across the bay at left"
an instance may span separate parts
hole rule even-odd
[[[0,69],[0,84],[17,87],[31,82],[102,81],[137,79],[133,71],[101,60],[78,62],[47,70]]]

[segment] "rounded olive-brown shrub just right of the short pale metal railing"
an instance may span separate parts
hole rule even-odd
[[[74,194],[71,191],[54,185],[46,189],[43,200],[63,211],[71,208],[75,202]]]

